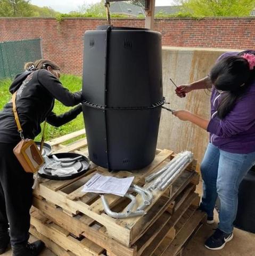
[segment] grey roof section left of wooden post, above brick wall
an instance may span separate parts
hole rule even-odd
[[[116,14],[126,14],[137,17],[138,15],[145,15],[144,9],[135,4],[125,2],[114,2],[110,5],[110,12]]]

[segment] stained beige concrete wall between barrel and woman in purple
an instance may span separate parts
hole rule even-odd
[[[185,98],[175,94],[169,80],[182,85],[205,77],[216,59],[228,49],[163,47],[163,93],[171,109],[186,109],[203,118],[210,118],[210,91],[199,90],[188,93]],[[167,107],[167,105],[166,105]],[[200,164],[208,144],[208,133],[190,122],[180,121],[162,109],[158,148],[172,149],[176,153],[191,150]]]

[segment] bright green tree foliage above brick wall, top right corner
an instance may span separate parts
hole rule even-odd
[[[179,15],[194,17],[249,16],[255,0],[176,0]]]

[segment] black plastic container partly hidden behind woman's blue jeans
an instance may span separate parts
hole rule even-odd
[[[236,228],[255,233],[255,167],[242,180],[238,192]]]

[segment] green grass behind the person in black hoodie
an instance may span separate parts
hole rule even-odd
[[[61,83],[64,87],[67,87],[71,92],[76,92],[81,90],[82,79],[78,76],[73,75],[62,75],[60,78]],[[2,110],[5,103],[11,99],[11,94],[9,92],[9,86],[11,84],[11,79],[0,80],[0,109]],[[59,115],[71,109],[70,107],[65,107],[59,101],[55,101],[55,106],[53,111]],[[83,115],[80,114],[76,119],[69,122],[68,124],[62,125],[60,127],[54,127],[50,124],[46,125],[46,141],[64,134],[78,131],[84,128]],[[35,140],[40,140],[41,135],[38,135]]]

